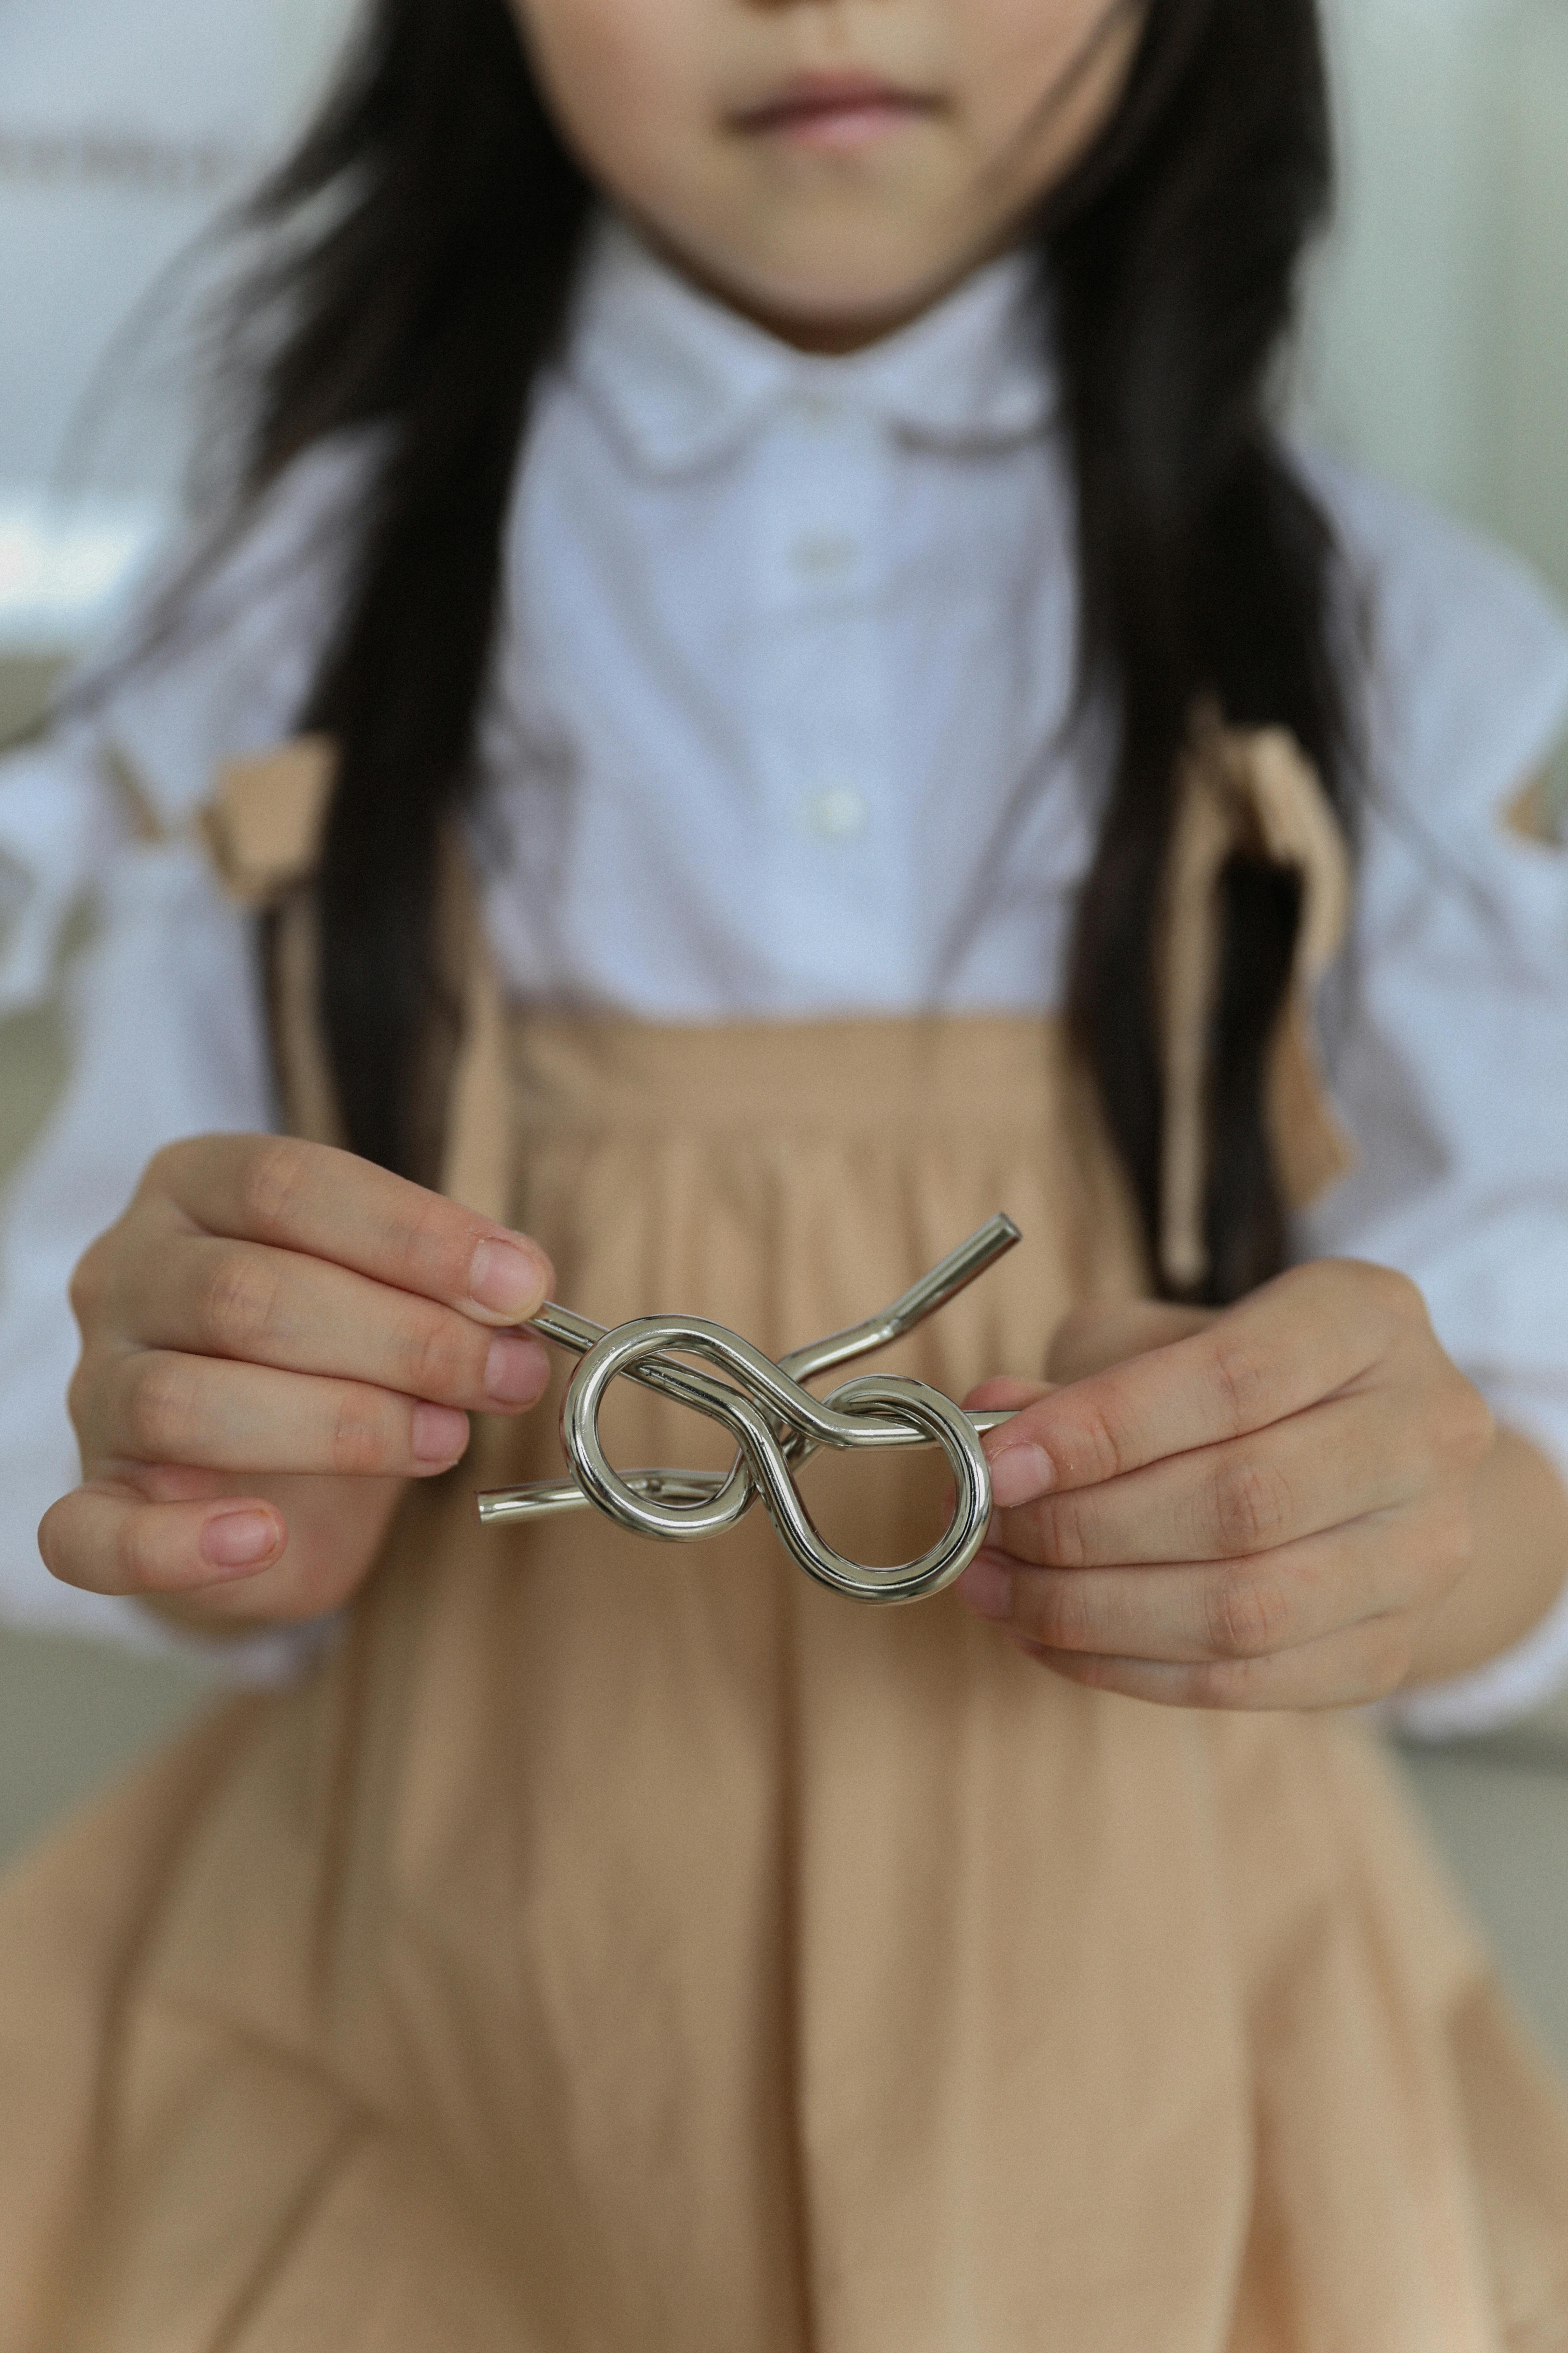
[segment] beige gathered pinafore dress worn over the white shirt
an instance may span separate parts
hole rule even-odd
[[[1147,1280],[1051,1021],[496,1021],[470,1191],[597,1320],[780,1353],[1004,1207],[891,1353],[961,1395]],[[813,1466],[825,1532],[919,1551],[912,1464]],[[1568,2346],[1556,2092],[1361,1729],[1077,1689],[759,1513],[480,1529],[557,1471],[482,1424],[308,1682],[0,1889],[0,2353]]]

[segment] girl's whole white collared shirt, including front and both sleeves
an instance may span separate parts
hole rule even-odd
[[[482,736],[487,920],[520,1000],[682,1021],[1060,1005],[1103,746],[1072,725],[1044,348],[1020,259],[825,360],[599,235],[536,400]],[[0,1009],[42,991],[73,899],[101,918],[71,972],[73,1075],[0,1221],[0,1602],[21,1619],[165,1640],[35,1558],[78,1478],[66,1280],[160,1144],[273,1120],[249,932],[181,828],[223,758],[292,732],[369,456],[303,459],[174,645],[0,772]],[[1500,821],[1568,720],[1568,633],[1509,558],[1312,478],[1368,612],[1373,786],[1326,1005],[1361,1169],[1298,1247],[1406,1268],[1568,1468],[1568,856]],[[132,838],[118,765],[162,845]],[[1568,1598],[1403,1715],[1472,1729],[1566,1678]]]

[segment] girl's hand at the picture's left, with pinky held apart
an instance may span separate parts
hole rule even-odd
[[[468,1414],[543,1395],[541,1341],[498,1327],[552,1280],[527,1235],[353,1153],[167,1146],[71,1282],[85,1485],[45,1513],[45,1565],[193,1624],[336,1609]]]

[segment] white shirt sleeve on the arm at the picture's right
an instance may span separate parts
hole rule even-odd
[[[1394,492],[1328,475],[1328,499],[1371,654],[1359,915],[1321,1007],[1359,1167],[1298,1247],[1410,1275],[1568,1478],[1568,849],[1507,824],[1568,729],[1568,628],[1523,567]],[[1486,1732],[1566,1682],[1568,1595],[1392,1713]]]

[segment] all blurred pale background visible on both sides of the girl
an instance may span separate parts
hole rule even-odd
[[[353,5],[0,0],[0,741],[174,520],[179,344],[148,289],[303,120]],[[1568,0],[1326,9],[1342,216],[1302,428],[1568,595]],[[0,1174],[56,1068],[47,1019],[0,1028]],[[193,1673],[0,1635],[0,1859],[197,1697]],[[1568,2059],[1568,1706],[1413,1769]]]

